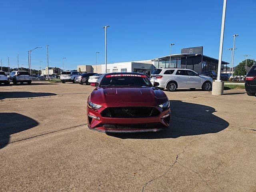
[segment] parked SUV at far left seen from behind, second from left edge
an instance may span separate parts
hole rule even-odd
[[[9,76],[9,81],[11,81],[14,85],[17,83],[31,84],[32,79],[27,71],[12,71]]]

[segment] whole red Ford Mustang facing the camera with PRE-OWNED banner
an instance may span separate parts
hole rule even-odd
[[[91,85],[96,86],[95,83]],[[88,127],[100,132],[146,132],[168,128],[169,99],[155,86],[141,73],[106,74],[88,97]]]

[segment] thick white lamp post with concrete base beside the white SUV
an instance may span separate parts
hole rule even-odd
[[[220,50],[219,50],[219,62],[218,62],[218,76],[212,84],[212,95],[223,95],[224,82],[220,80],[220,69],[222,62],[222,50],[223,50],[223,40],[224,40],[224,29],[225,29],[225,18],[226,18],[226,5],[227,0],[223,1],[223,10],[222,10],[222,24],[220,32]]]

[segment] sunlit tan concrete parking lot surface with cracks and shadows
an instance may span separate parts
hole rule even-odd
[[[87,128],[94,88],[0,86],[0,191],[255,192],[256,97],[167,92],[171,128]]]

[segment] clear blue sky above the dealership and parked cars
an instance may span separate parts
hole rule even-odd
[[[104,29],[108,28],[108,63],[147,60],[181,48],[204,46],[218,58],[223,0],[0,0],[0,59],[7,66],[46,66],[76,69],[78,64],[104,63]],[[222,60],[230,61],[233,34],[235,65],[251,54],[256,58],[256,0],[228,0]]]

